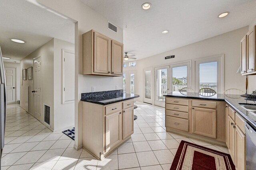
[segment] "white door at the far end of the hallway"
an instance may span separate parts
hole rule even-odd
[[[16,103],[16,68],[4,67],[6,80],[6,102]]]

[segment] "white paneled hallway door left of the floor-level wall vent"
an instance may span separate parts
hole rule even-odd
[[[41,115],[41,57],[34,59],[34,117],[40,121]]]

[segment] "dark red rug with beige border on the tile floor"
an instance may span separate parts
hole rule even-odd
[[[235,170],[229,154],[181,141],[170,170]]]

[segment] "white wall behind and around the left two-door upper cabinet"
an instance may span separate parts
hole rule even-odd
[[[115,90],[115,85],[122,87],[122,77],[82,75],[82,34],[94,29],[116,41],[123,42],[123,30],[118,28],[118,34],[107,28],[107,18],[95,12],[80,0],[38,0],[48,8],[76,20],[75,25],[75,148],[82,148],[82,102],[81,93],[91,92],[91,86],[96,91]]]

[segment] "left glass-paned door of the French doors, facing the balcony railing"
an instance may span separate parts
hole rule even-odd
[[[169,92],[168,82],[169,66],[155,68],[155,105],[164,107],[165,97],[164,94]]]

